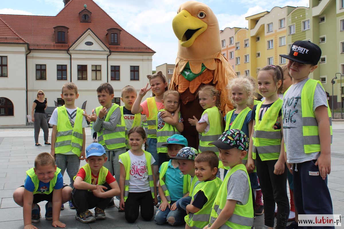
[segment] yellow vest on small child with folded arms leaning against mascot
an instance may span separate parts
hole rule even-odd
[[[165,109],[160,110],[165,111]],[[159,113],[158,112],[158,113]],[[178,113],[180,118],[180,112]],[[162,144],[167,143],[167,139],[175,134],[180,134],[180,132],[177,130],[175,126],[172,126],[168,123],[165,123],[165,125],[158,130],[158,118],[156,120],[156,126],[157,126],[157,152],[158,153],[167,153],[167,147],[162,146]]]

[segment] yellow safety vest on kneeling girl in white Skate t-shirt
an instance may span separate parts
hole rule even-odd
[[[153,199],[155,198],[154,195],[154,189],[155,189],[155,184],[153,180],[153,173],[152,173],[152,168],[151,168],[151,159],[152,159],[152,154],[150,154],[147,151],[144,152],[144,157],[146,158],[147,162],[147,172],[148,172],[148,180],[149,180],[149,187],[150,191],[152,193]],[[124,202],[127,201],[128,195],[129,195],[129,175],[130,175],[130,155],[129,152],[125,152],[119,155],[119,159],[122,160],[122,163],[124,165],[124,169],[126,170],[126,180],[124,182]]]

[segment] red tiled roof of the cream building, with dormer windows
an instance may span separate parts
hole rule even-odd
[[[80,22],[79,12],[87,4],[91,23]],[[68,43],[55,44],[54,27],[68,27]],[[56,16],[0,14],[0,43],[29,43],[30,49],[67,50],[88,28],[114,52],[155,53],[118,25],[92,0],[71,0]],[[109,45],[109,28],[119,28],[120,45]]]

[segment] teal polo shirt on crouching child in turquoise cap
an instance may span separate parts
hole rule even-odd
[[[174,168],[172,160],[169,161],[165,173],[165,184],[169,190],[171,201],[178,201],[183,197],[183,173],[179,170],[179,167]],[[161,166],[159,169],[159,173]]]

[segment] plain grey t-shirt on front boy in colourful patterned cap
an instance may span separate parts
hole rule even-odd
[[[234,199],[238,205],[248,203],[250,197],[250,185],[246,172],[243,170],[235,171],[227,183],[227,199]]]

